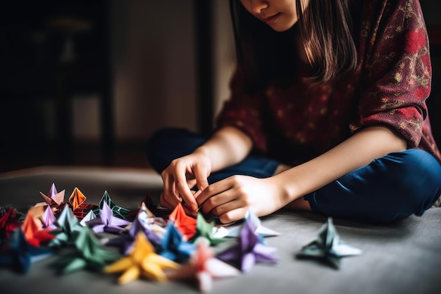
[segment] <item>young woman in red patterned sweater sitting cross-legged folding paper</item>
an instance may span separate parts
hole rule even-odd
[[[283,207],[360,221],[441,194],[418,0],[232,0],[237,71],[208,139],[151,136],[161,205],[222,223]]]

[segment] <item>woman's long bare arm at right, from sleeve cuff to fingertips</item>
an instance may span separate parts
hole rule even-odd
[[[406,149],[406,141],[384,126],[360,130],[330,151],[270,178],[232,176],[206,187],[197,197],[204,213],[223,223],[240,220],[249,208],[257,216],[271,214],[300,197],[390,152]]]

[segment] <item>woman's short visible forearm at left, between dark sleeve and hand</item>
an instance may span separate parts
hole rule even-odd
[[[224,127],[193,153],[203,153],[211,160],[211,172],[242,161],[252,148],[251,139],[234,127]]]

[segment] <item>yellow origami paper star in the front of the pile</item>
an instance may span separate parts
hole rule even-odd
[[[178,267],[179,264],[157,255],[144,233],[139,232],[130,255],[104,267],[104,272],[112,274],[123,271],[117,282],[125,284],[141,276],[166,281],[167,276],[163,269],[177,269]]]

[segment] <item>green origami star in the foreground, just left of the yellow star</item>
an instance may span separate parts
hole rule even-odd
[[[75,239],[75,252],[58,259],[52,265],[61,268],[61,274],[80,269],[101,270],[121,256],[104,249],[89,228],[80,231]]]

